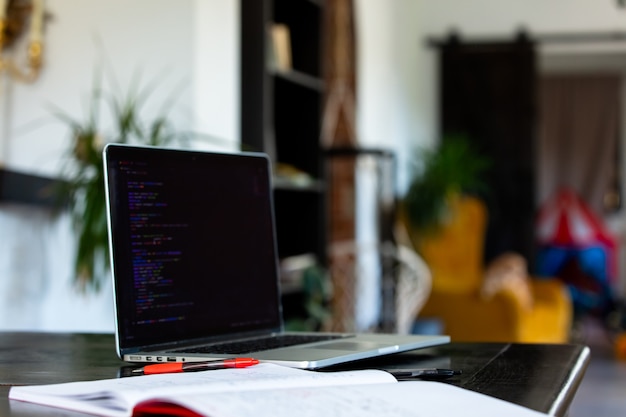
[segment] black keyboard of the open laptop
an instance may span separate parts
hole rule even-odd
[[[172,351],[171,353],[252,353],[260,352],[263,350],[276,349],[281,347],[289,347],[295,345],[302,345],[305,343],[322,342],[326,340],[334,340],[346,335],[334,335],[334,334],[315,334],[315,335],[295,335],[284,334],[277,336],[269,336],[265,338],[259,338],[254,340],[243,340],[238,342],[227,342],[208,346],[195,346],[186,349],[180,349]]]

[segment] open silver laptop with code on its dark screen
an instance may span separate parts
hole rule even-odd
[[[265,154],[109,144],[103,157],[121,359],[317,369],[449,342],[284,331]]]

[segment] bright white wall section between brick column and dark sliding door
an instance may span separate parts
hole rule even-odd
[[[416,143],[432,132],[420,85],[422,0],[355,0],[357,25],[357,130],[365,147],[398,150],[398,187],[404,189]]]

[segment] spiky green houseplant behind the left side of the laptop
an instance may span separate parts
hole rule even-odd
[[[149,88],[130,89],[115,96],[104,91],[100,78],[96,77],[86,120],[77,120],[59,109],[54,111],[67,124],[70,133],[70,148],[57,195],[63,207],[69,209],[77,234],[74,272],[75,283],[81,291],[97,291],[109,268],[104,145],[116,142],[158,146],[185,138],[174,132],[165,112],[144,120],[141,111],[151,91]],[[172,102],[173,98],[169,97],[163,108],[171,108]],[[107,116],[111,125],[107,128],[100,125],[102,107],[110,113]]]

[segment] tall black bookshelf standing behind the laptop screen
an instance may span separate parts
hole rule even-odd
[[[314,254],[322,264],[323,7],[322,0],[241,0],[242,149],[273,161],[279,257]]]

